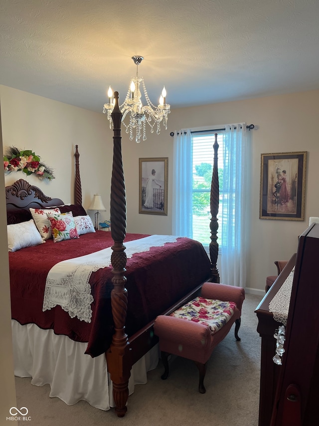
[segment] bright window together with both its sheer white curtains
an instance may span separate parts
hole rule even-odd
[[[217,133],[221,279],[245,287],[250,231],[250,132],[246,123],[226,124],[223,131],[215,129],[180,129],[174,135],[172,233],[196,239],[208,248],[213,145]]]

